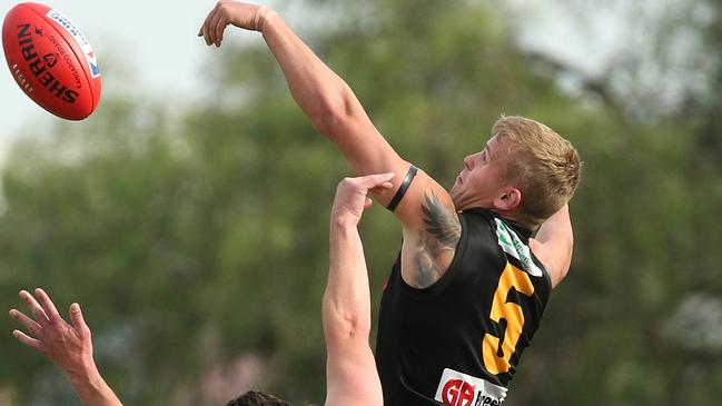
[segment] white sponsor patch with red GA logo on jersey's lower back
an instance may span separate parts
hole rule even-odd
[[[504,402],[506,390],[488,380],[446,368],[434,399],[448,406],[497,406]]]

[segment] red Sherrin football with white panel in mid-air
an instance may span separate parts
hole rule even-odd
[[[82,32],[60,11],[19,3],[2,23],[2,48],[22,91],[43,109],[82,120],[98,107],[98,59]]]

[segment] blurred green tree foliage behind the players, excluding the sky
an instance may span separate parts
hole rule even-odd
[[[722,308],[722,184],[700,169],[692,125],[630,122],[564,93],[478,1],[313,4],[342,17],[305,33],[311,47],[399,154],[442,184],[501,113],[550,123],[585,160],[573,268],[508,405],[714,404],[722,348],[691,346],[692,328],[675,327],[699,300]],[[109,97],[82,125],[16,147],[2,180],[0,307],[34,286],[66,308],[81,303],[127,404],[222,404],[248,387],[208,397],[200,383],[248,355],[265,367],[246,385],[320,404],[327,217],[349,172],[260,39],[225,47],[212,66],[214,96],[194,111]],[[399,228],[376,208],[362,231],[377,304]],[[19,404],[72,403],[44,359],[9,334],[0,347],[0,387]]]

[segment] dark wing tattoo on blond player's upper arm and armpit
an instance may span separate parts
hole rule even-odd
[[[416,271],[411,284],[416,288],[429,287],[444,275],[446,269],[439,269],[437,260],[442,254],[454,251],[462,235],[456,214],[444,206],[436,194],[425,194],[424,197],[424,230],[414,254]]]

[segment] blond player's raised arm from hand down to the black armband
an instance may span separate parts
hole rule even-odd
[[[219,1],[198,34],[207,44],[220,46],[228,24],[263,33],[286,76],[294,99],[314,127],[339,148],[354,174],[393,171],[396,177],[392,182],[395,186],[402,182],[408,162],[374,127],[349,86],[298,38],[278,13],[256,4]],[[375,197],[387,205],[393,191]]]

